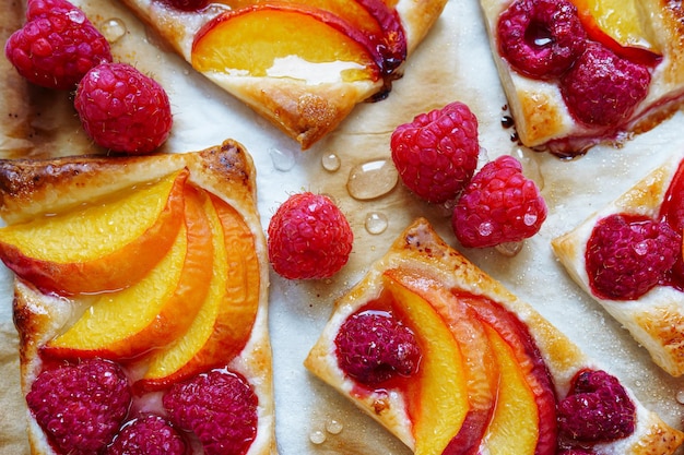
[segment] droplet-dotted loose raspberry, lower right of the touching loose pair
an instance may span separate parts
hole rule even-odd
[[[453,207],[456,237],[468,248],[494,247],[532,237],[546,219],[546,204],[534,181],[512,156],[487,163]]]

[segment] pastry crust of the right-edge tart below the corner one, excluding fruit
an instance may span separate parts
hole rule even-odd
[[[668,160],[581,225],[552,241],[556,256],[573,279],[629,331],[648,350],[656,364],[673,376],[684,374],[682,292],[671,287],[658,286],[634,301],[598,298],[591,292],[585,253],[587,241],[599,219],[615,213],[654,217],[680,161],[681,157]]]

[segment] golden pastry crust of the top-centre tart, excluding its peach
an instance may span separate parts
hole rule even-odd
[[[143,22],[170,44],[186,61],[192,62],[192,43],[202,25],[228,7],[213,3],[200,13],[175,11],[164,2],[123,0]],[[406,36],[410,56],[441,14],[446,0],[400,0],[396,8]],[[376,81],[310,81],[298,76],[228,75],[201,71],[223,89],[270,120],[303,149],[333,131],[354,106],[386,89]],[[401,72],[401,70],[399,70]]]

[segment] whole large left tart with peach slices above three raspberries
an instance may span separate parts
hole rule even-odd
[[[33,454],[274,454],[243,146],[0,160]]]

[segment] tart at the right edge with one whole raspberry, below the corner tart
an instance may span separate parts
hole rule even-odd
[[[673,376],[684,374],[683,228],[684,160],[674,154],[552,242],[573,279]]]

